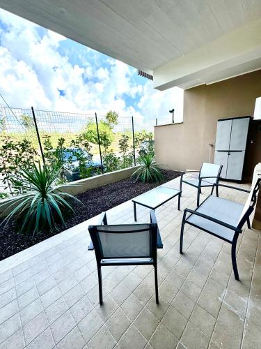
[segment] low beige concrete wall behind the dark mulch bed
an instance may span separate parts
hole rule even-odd
[[[133,172],[139,168],[139,166],[132,168],[125,168],[124,170],[113,171],[105,174],[100,174],[99,176],[79,179],[79,181],[74,181],[72,185],[65,186],[63,191],[65,193],[69,193],[72,195],[77,195],[79,193],[84,193],[89,189],[99,188],[100,186],[105,186],[109,183],[115,183],[116,181],[121,181],[122,179],[126,179],[131,177]],[[77,185],[75,185],[77,184]],[[19,196],[17,196],[18,198]],[[6,205],[5,205],[6,202]],[[5,214],[3,212],[8,207],[8,199],[0,200],[0,216],[6,216],[9,211],[6,211]]]

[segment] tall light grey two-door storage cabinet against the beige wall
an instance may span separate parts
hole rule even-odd
[[[250,119],[238,117],[218,121],[214,163],[223,165],[223,179],[242,180]]]

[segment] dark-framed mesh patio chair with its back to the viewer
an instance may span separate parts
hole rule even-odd
[[[150,211],[150,223],[122,225],[108,225],[106,213],[103,212],[100,225],[90,225],[88,230],[97,261],[100,304],[102,304],[101,269],[107,265],[153,265],[156,302],[159,304],[157,278],[158,226],[155,212]],[[160,239],[160,236],[158,239]],[[89,247],[89,249],[91,248],[92,246]]]

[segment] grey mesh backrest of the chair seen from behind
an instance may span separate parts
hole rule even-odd
[[[154,258],[157,253],[156,224],[92,225],[89,232],[99,259]]]

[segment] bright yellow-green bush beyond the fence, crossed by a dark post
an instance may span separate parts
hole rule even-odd
[[[111,126],[106,121],[100,121],[98,124],[100,144],[104,149],[108,149],[113,141],[113,132]],[[97,135],[97,126],[95,122],[89,122],[84,130],[84,138],[93,144],[99,144]]]

